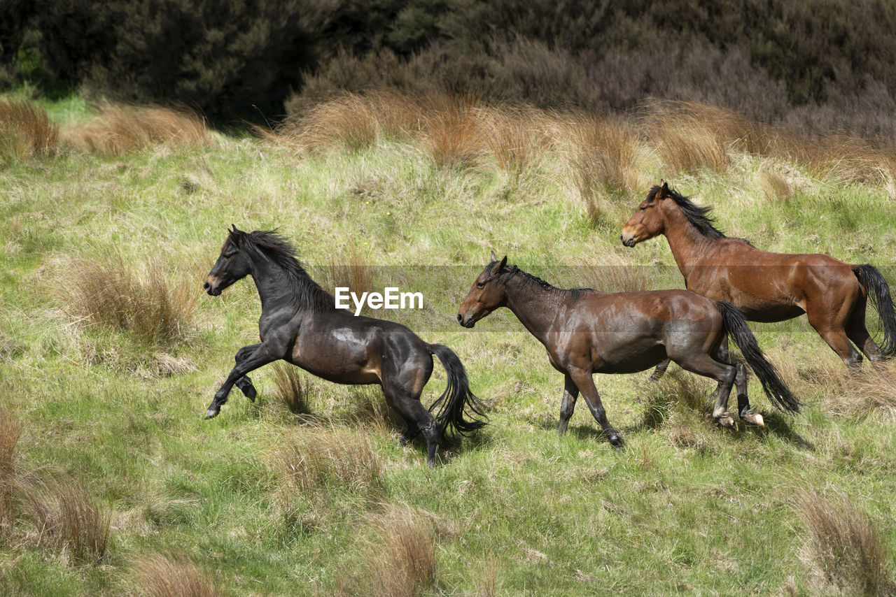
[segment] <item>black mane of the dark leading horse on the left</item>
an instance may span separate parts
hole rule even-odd
[[[254,232],[230,231],[230,237],[239,246],[245,243],[261,252],[273,261],[285,273],[293,295],[302,309],[332,310],[335,309],[332,294],[314,282],[308,276],[302,262],[298,260],[296,248],[288,240],[274,230],[255,230]]]

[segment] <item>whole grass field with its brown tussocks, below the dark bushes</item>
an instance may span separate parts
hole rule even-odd
[[[454,320],[493,249],[556,286],[680,286],[665,239],[618,240],[660,177],[729,235],[892,286],[892,152],[693,105],[616,120],[348,96],[233,137],[0,101],[0,593],[894,591],[892,363],[849,378],[805,316],[752,324],[802,414],[753,381],[768,428],[728,431],[710,380],[598,375],[616,450],[582,405],[556,437],[563,380],[509,311]],[[250,281],[202,292],[231,223],[279,226],[331,292],[422,292],[423,311],[370,314],[451,346],[491,424],[429,470],[379,388],[270,365],[257,402],[234,392],[203,421],[257,342]],[[426,405],[444,383],[436,365]]]

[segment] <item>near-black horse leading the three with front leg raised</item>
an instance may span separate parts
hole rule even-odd
[[[252,276],[262,301],[258,320],[262,341],[237,352],[236,365],[215,393],[206,419],[220,413],[234,385],[254,401],[256,391],[246,373],[282,359],[324,380],[379,384],[386,403],[408,424],[402,444],[423,433],[429,466],[435,466],[438,445],[450,446],[456,439],[452,436],[486,424],[476,418],[483,414],[483,406],[450,348],[427,344],[400,323],[336,309],[332,294],[308,276],[295,248],[280,235],[246,233],[233,226],[203,287],[217,296],[246,276]],[[433,354],[444,365],[448,387],[427,410],[420,394],[433,372]],[[435,416],[430,413],[433,408],[439,409]]]

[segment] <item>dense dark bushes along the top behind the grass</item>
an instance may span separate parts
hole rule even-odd
[[[397,86],[538,107],[685,99],[816,131],[896,133],[896,8],[883,0],[5,4],[6,72],[22,61],[11,48],[30,44],[47,79],[211,117],[279,115],[293,92],[295,113],[333,90]]]

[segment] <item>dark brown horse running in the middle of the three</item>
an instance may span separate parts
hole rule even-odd
[[[470,286],[457,320],[472,328],[499,307],[513,311],[545,346],[551,365],[564,374],[558,434],[566,431],[581,391],[610,443],[620,445],[622,439],[607,422],[592,375],[644,371],[666,358],[719,382],[712,416],[719,424],[733,427],[728,396],[737,368],[720,358],[728,335],[753,367],[771,403],[782,410],[799,410],[800,403],[762,355],[744,316],[729,303],[687,290],[564,290],[508,266],[506,257],[499,261],[493,252],[491,262]],[[745,412],[741,416],[762,425],[761,414]]]

